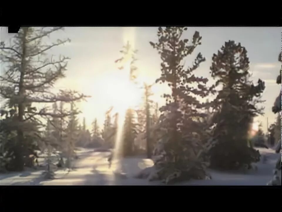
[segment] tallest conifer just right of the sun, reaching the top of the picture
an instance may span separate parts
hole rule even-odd
[[[201,44],[202,37],[195,32],[192,42],[181,39],[186,27],[159,27],[159,41],[150,44],[158,50],[161,77],[156,82],[166,82],[171,94],[165,94],[166,105],[160,108],[162,139],[158,145],[159,157],[155,161],[156,172],[150,180],[162,179],[165,183],[190,178],[206,178],[206,163],[202,160],[203,109],[208,105],[196,98],[205,97],[212,91],[207,79],[196,77],[193,72],[205,58],[197,55],[193,66],[184,69],[184,59]],[[202,109],[202,111],[201,111]],[[160,148],[160,146],[162,148]]]

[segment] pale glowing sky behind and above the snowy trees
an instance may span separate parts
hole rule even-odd
[[[211,78],[209,67],[214,53],[229,39],[241,42],[246,47],[250,59],[250,71],[253,73],[254,82],[259,78],[266,82],[263,99],[266,100],[265,115],[259,117],[263,130],[266,130],[266,117],[269,125],[275,121],[271,107],[277,97],[280,86],[276,84],[276,77],[281,68],[278,54],[281,51],[281,27],[188,27],[183,33],[183,38],[191,39],[195,31],[202,36],[202,45],[197,47],[191,56],[186,59],[186,64],[192,64],[196,55],[201,52],[206,57],[206,62],[196,70],[195,74]],[[157,40],[157,27],[66,27],[65,31],[56,32],[51,39],[70,38],[71,43],[56,47],[50,54],[62,54],[70,57],[68,62],[67,77],[58,82],[58,87],[66,87],[83,92],[92,97],[88,102],[81,103],[80,109],[86,118],[86,124],[98,119],[102,127],[105,111],[119,100],[118,93],[124,91],[124,80],[114,61],[118,59],[123,44],[129,40],[134,44],[137,52],[136,66],[139,71],[140,81],[153,83],[160,76],[160,56],[151,47],[150,41]],[[119,85],[113,84],[119,80]],[[163,103],[160,95],[164,93],[162,87],[154,87],[156,92],[153,99]],[[109,96],[111,98],[107,98]],[[125,95],[130,95],[126,93]],[[113,98],[115,97],[115,98]]]

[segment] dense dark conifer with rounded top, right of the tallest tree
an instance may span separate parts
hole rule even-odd
[[[249,79],[249,58],[245,47],[234,41],[224,46],[212,57],[210,67],[216,86],[221,85],[213,102],[214,139],[217,143],[210,150],[211,166],[220,169],[236,169],[259,160],[259,152],[248,147],[248,137],[253,118],[263,113],[256,107],[265,89],[259,79],[254,86]]]

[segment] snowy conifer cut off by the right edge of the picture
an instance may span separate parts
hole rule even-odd
[[[278,56],[278,61],[279,62],[282,62],[281,53],[282,52],[280,52],[280,54]],[[276,79],[276,83],[279,84],[279,85],[281,85],[281,79],[282,79],[281,70],[282,70],[282,68],[280,69],[280,74],[278,75],[278,77]],[[276,100],[274,102],[274,105],[272,107],[272,112],[274,114],[279,113],[280,117],[281,117],[281,110],[282,110],[282,108],[281,108],[281,104],[282,104],[281,93],[282,93],[282,90],[280,89],[278,97],[276,98]],[[281,120],[279,120],[279,122],[281,122]],[[281,133],[281,131],[280,131],[280,133]],[[282,141],[281,141],[281,134],[280,134],[280,140],[278,141],[278,144],[276,146],[276,153],[281,153],[281,145],[282,145]],[[276,162],[273,179],[270,180],[267,183],[267,185],[281,185],[281,154],[280,154],[280,156],[279,156],[279,158],[278,158],[278,160]]]

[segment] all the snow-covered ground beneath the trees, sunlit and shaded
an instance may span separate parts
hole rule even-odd
[[[262,157],[256,163],[257,170],[219,172],[209,170],[211,180],[189,180],[186,185],[266,185],[273,177],[273,169],[281,154],[272,149],[258,148]],[[46,180],[44,170],[26,170],[22,173],[0,174],[0,185],[154,185],[161,184],[146,179],[136,179],[134,175],[151,167],[152,160],[143,157],[124,158],[113,161],[111,168],[107,161],[107,151],[83,149],[77,151],[79,159],[74,161],[74,170],[57,170],[56,179]],[[118,171],[117,171],[118,170]]]

